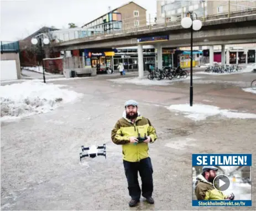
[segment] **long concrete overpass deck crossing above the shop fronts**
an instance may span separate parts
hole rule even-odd
[[[169,35],[162,47],[190,46],[190,29],[181,27],[180,22],[156,24],[143,30],[119,31],[115,34],[98,34],[53,44],[58,50],[77,50],[87,48],[118,48],[138,45],[138,38],[145,36]],[[256,9],[244,12],[215,15],[202,22],[200,31],[194,31],[194,46],[256,43]],[[208,41],[205,42],[204,40]],[[147,43],[148,44],[148,43]],[[156,44],[156,43],[150,43]],[[158,42],[159,44],[159,42]],[[143,43],[142,43],[143,45]]]

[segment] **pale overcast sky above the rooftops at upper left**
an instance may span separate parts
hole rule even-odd
[[[129,0],[0,0],[1,41],[24,39],[41,27],[68,28],[69,23],[78,27],[115,9]],[[134,0],[156,13],[156,0]]]

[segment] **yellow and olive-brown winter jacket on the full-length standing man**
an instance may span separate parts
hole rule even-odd
[[[130,136],[138,137],[140,136],[150,136],[151,143],[157,139],[155,128],[151,125],[149,119],[139,115],[135,120],[134,124],[125,117],[119,119],[114,125],[111,132],[111,139],[114,144],[122,145],[123,149],[123,160],[129,162],[138,162],[142,159],[149,157],[148,154],[148,143],[138,143],[134,145],[130,143]]]

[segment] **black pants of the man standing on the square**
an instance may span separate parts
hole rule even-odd
[[[145,198],[151,197],[153,192],[153,167],[150,157],[139,162],[128,162],[124,160],[123,165],[130,197],[139,200],[141,193]],[[138,172],[142,178],[142,190],[139,187]]]

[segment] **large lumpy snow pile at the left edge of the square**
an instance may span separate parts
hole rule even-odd
[[[63,86],[33,81],[0,86],[1,120],[46,113],[83,96]]]

